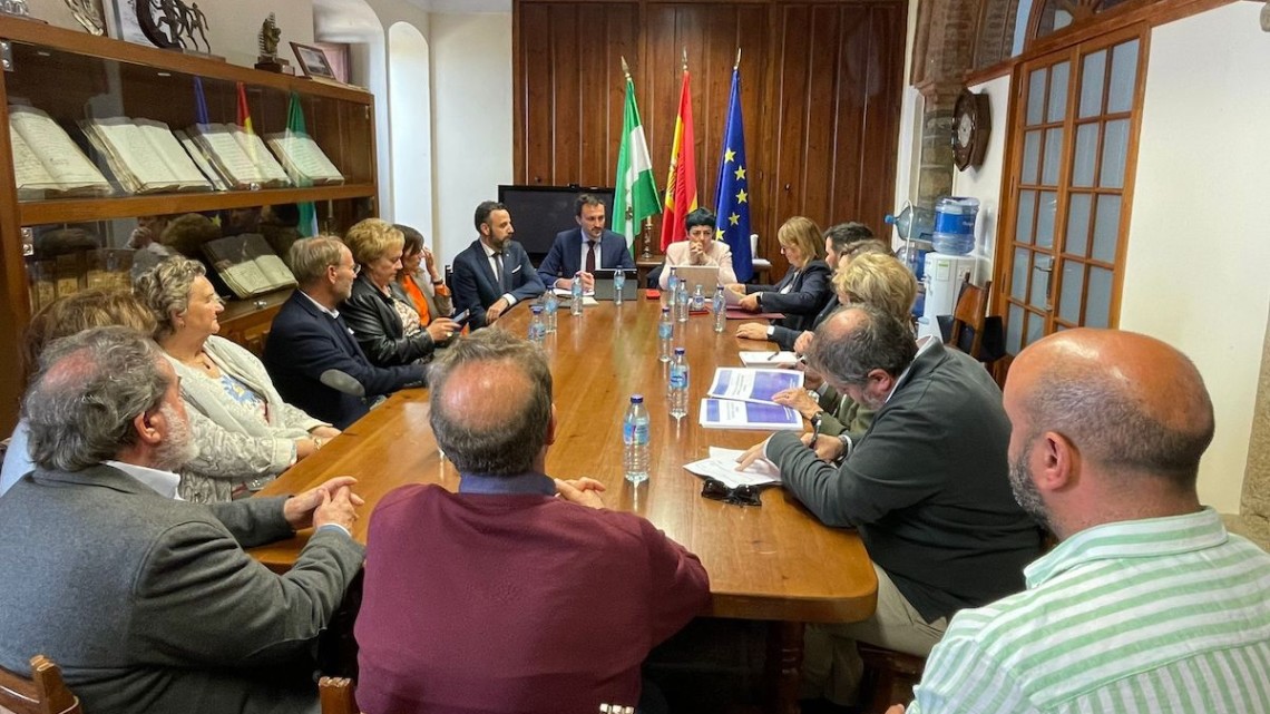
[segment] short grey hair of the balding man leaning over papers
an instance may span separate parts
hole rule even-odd
[[[847,329],[842,323],[852,313],[862,313],[864,319]],[[885,310],[862,304],[841,310],[820,323],[806,361],[822,375],[846,384],[861,384],[874,370],[898,377],[916,356],[917,343],[908,325]]]

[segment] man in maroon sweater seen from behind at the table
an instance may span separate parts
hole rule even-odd
[[[429,376],[458,493],[408,485],[371,517],[357,617],[367,714],[594,714],[640,700],[649,650],[710,600],[705,569],[592,479],[544,475],[541,349],[480,330]]]

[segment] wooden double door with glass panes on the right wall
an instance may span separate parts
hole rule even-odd
[[[1030,60],[1017,86],[1011,220],[998,260],[1006,346],[1116,321],[1144,30]]]

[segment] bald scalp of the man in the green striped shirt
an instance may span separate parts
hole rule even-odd
[[[1010,367],[1006,408],[1029,440],[1057,432],[1107,474],[1186,492],[1213,440],[1213,403],[1195,365],[1129,332],[1066,330],[1027,347]]]

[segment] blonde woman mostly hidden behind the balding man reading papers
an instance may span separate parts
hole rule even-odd
[[[897,258],[869,253],[841,260],[850,266],[833,278],[833,287],[842,305],[872,305],[911,324],[917,280]],[[787,389],[772,398],[777,404],[798,409],[812,422],[812,429],[826,436],[843,432],[862,433],[872,423],[874,409],[838,394],[828,385],[818,395],[804,389]]]

